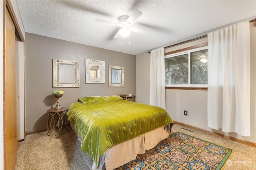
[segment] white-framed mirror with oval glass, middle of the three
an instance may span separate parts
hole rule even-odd
[[[105,83],[105,61],[85,59],[85,83]]]

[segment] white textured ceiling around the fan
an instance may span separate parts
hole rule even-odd
[[[60,40],[138,55],[165,47],[230,24],[256,18],[256,0],[17,0],[25,31]],[[149,31],[131,32],[114,39],[118,27],[95,19],[118,23],[137,9],[143,14],[132,23]]]

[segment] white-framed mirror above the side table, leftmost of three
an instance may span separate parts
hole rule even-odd
[[[52,86],[80,87],[80,65],[76,61],[61,59],[52,60]]]

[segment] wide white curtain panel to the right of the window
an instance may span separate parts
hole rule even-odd
[[[208,34],[208,127],[250,136],[249,22]]]

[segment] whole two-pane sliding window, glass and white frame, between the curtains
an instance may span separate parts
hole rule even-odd
[[[165,85],[207,87],[207,47],[165,56]]]

